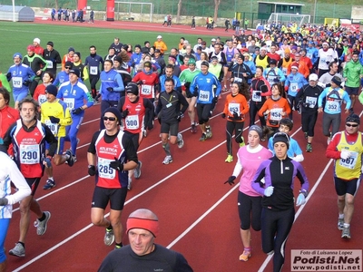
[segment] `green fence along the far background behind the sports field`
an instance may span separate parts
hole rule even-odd
[[[107,0],[88,0],[89,5],[95,11],[105,11]],[[274,2],[272,0],[264,0]],[[325,0],[326,3],[315,1],[294,1],[289,0],[289,3],[303,4],[302,14],[311,16],[311,23],[324,24],[324,19],[329,18],[344,18],[350,19],[352,6],[362,5],[360,0],[348,0],[347,5],[338,5]],[[140,1],[133,0],[138,3]],[[168,15],[173,17],[177,14],[179,0],[142,0],[142,2],[151,2],[154,5],[153,13],[156,15]],[[58,0],[60,7],[76,8],[76,0]],[[12,5],[12,0],[2,0],[2,5]],[[38,7],[55,7],[52,0],[16,0],[16,5],[38,6]],[[315,10],[315,12],[314,12]],[[140,12],[138,10],[137,12]],[[236,12],[243,14],[243,19],[250,20],[249,27],[254,27],[258,22],[258,4],[257,0],[223,0],[219,6],[219,18],[233,18]],[[143,7],[142,13],[149,14],[150,9],[147,6]],[[183,16],[199,16],[207,17],[214,15],[214,0],[199,0],[182,2],[181,15]],[[363,15],[362,15],[363,16]],[[269,18],[270,15],[267,15]],[[267,20],[267,19],[266,19]]]

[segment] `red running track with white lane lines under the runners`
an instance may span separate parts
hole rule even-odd
[[[142,178],[133,182],[122,222],[124,225],[127,216],[135,209],[152,209],[161,224],[156,242],[182,252],[197,272],[271,271],[270,258],[260,249],[260,233],[252,232],[253,256],[250,260],[238,260],[243,250],[236,205],[238,186],[223,184],[234,167],[234,162],[224,162],[225,120],[221,119],[220,112],[225,95],[217,104],[211,120],[211,140],[198,141],[200,131],[191,134],[188,118],[182,120],[180,130],[185,145],[182,150],[172,147],[174,161],[170,165],[162,165],[164,153],[159,138],[160,126],[155,123],[155,128],[149,131],[139,149],[139,159],[143,162]],[[361,110],[361,105],[356,104],[356,112]],[[79,132],[78,161],[73,168],[67,165],[54,168],[57,187],[44,191],[45,179],[42,180],[36,197],[44,210],[52,212],[52,218],[44,236],[36,236],[34,227],[30,227],[26,257],[8,256],[9,271],[96,271],[103,257],[113,250],[113,247],[103,245],[104,229],[90,224],[94,181],[87,175],[86,151],[93,131],[98,130],[99,117],[99,105],[87,110]],[[305,150],[306,141],[299,128],[299,115],[294,117],[293,137]],[[343,114],[343,120],[345,117],[346,114]],[[244,136],[246,138],[247,132]],[[319,115],[313,152],[304,152],[302,163],[311,184],[309,199],[305,206],[297,209],[283,271],[290,270],[290,249],[362,248],[359,241],[363,240],[363,234],[358,230],[358,226],[363,224],[360,216],[362,199],[358,194],[351,224],[352,239],[343,240],[336,227],[336,194],[331,160],[325,158],[325,149],[326,139],[321,135]],[[234,153],[236,151],[237,145],[234,144]],[[299,186],[296,187],[297,195]],[[14,247],[18,238],[20,213],[16,208],[5,243],[6,251]],[[32,215],[32,221],[34,219]],[[126,236],[123,243],[128,244]]]

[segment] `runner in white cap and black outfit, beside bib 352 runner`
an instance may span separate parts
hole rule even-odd
[[[315,123],[318,118],[318,97],[322,88],[318,85],[318,75],[311,73],[309,75],[309,84],[304,85],[296,95],[299,111],[301,112],[302,131],[305,139],[308,140],[307,152],[312,151],[311,142],[314,137]]]

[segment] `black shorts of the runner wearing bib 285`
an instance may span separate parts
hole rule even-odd
[[[93,191],[92,208],[106,209],[110,202],[111,209],[123,210],[126,196],[127,187],[109,189],[96,186]]]

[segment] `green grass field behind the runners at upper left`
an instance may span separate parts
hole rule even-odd
[[[108,47],[113,43],[114,37],[119,37],[123,44],[141,44],[145,41],[153,44],[156,36],[160,33],[139,30],[121,30],[107,28],[79,27],[77,25],[63,26],[53,24],[31,24],[0,22],[2,29],[2,52],[0,59],[0,71],[6,73],[13,64],[13,54],[15,52],[26,54],[26,46],[33,44],[35,37],[41,40],[41,45],[45,48],[49,41],[54,42],[54,49],[61,57],[68,53],[68,48],[73,46],[75,51],[82,54],[82,60],[89,54],[89,46],[95,45],[97,53],[105,56]],[[183,34],[162,34],[162,39],[168,48],[177,46]],[[185,36],[191,44],[195,44],[197,35],[187,34]]]

